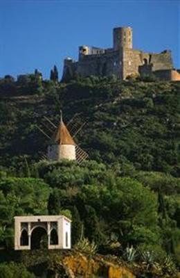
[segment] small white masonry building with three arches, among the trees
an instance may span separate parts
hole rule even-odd
[[[64,215],[15,216],[15,250],[71,248],[71,220]]]

